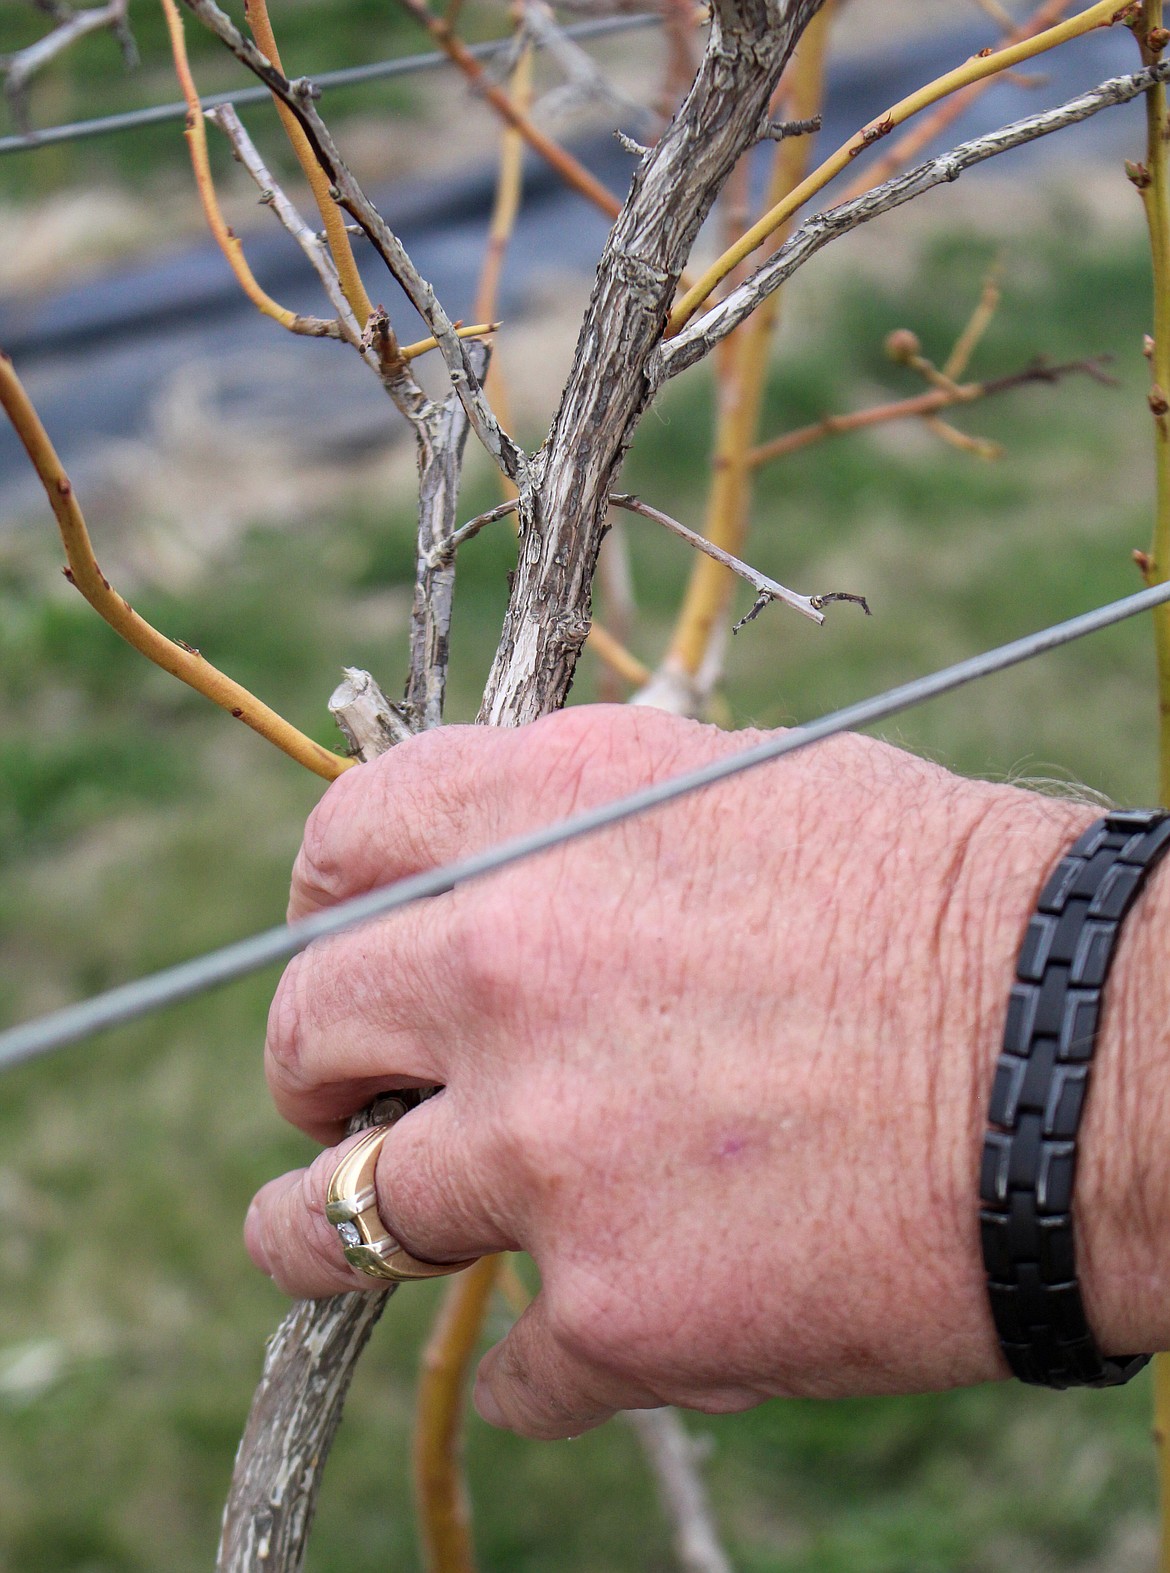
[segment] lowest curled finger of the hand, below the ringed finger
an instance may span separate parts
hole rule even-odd
[[[555,1441],[588,1431],[618,1409],[656,1408],[662,1400],[572,1350],[539,1293],[480,1361],[473,1402],[489,1425]]]

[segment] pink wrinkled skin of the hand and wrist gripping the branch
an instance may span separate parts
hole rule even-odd
[[[289,915],[749,741],[612,706],[417,738],[329,788]],[[259,1192],[252,1255],[289,1293],[370,1287],[324,1221],[332,1144],[376,1092],[439,1082],[382,1148],[379,1208],[420,1257],[535,1257],[543,1290],[480,1369],[494,1424],[1003,1375],[988,1089],[1030,908],[1093,818],[840,738],[315,945],[266,1057],[329,1150]],[[1129,920],[1082,1137],[1082,1280],[1113,1353],[1170,1340],[1164,900],[1154,879]]]

